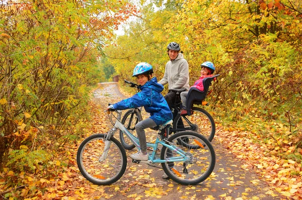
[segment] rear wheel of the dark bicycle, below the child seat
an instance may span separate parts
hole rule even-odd
[[[216,131],[212,116],[207,111],[197,107],[193,107],[192,112],[193,114],[190,116],[178,114],[175,117],[173,122],[174,133],[191,130],[202,134],[211,142]],[[186,142],[186,140],[183,140],[183,142]]]

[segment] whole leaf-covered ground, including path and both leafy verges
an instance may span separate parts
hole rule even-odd
[[[116,83],[100,84],[94,92],[91,109],[93,128],[85,133],[105,133],[111,128],[104,112],[108,103],[125,98]],[[149,131],[147,140],[157,133]],[[118,133],[115,135],[119,139]],[[84,139],[84,138],[83,138]],[[83,140],[82,139],[82,140]],[[127,169],[119,181],[98,186],[87,181],[79,172],[75,156],[81,141],[66,147],[54,160],[53,177],[35,179],[24,175],[24,184],[36,190],[34,197],[25,199],[301,199],[301,173],[292,160],[270,156],[269,145],[254,144],[247,132],[228,130],[217,124],[212,144],[216,165],[211,176],[198,185],[185,186],[162,179],[163,170],[146,164],[135,164],[128,158]],[[290,149],[288,149],[290,150]],[[127,155],[136,150],[127,151]],[[67,160],[67,165],[62,161]],[[160,167],[160,165],[156,165]],[[297,174],[292,174],[292,169]],[[22,175],[22,174],[21,174]],[[20,189],[23,196],[32,192]]]

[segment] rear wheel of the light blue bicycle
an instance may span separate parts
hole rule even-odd
[[[178,140],[183,137],[188,137],[195,145],[200,148],[187,148],[182,144],[177,144]],[[165,162],[162,167],[165,173],[175,182],[184,185],[194,185],[204,181],[212,173],[215,166],[215,152],[211,143],[202,135],[193,131],[178,132],[168,138],[170,145],[186,152],[188,160],[185,162]],[[171,151],[166,146],[163,146],[161,151],[162,160],[170,160],[172,157],[182,157],[175,151]]]

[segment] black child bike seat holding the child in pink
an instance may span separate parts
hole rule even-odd
[[[187,108],[192,108],[193,104],[200,105],[201,102],[205,99],[205,97],[208,94],[209,86],[211,85],[211,82],[220,74],[216,74],[212,77],[207,77],[202,79],[203,83],[203,91],[200,91],[196,87],[190,87],[187,95]],[[188,112],[188,115],[191,115],[191,112]]]

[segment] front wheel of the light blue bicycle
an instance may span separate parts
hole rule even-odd
[[[127,166],[126,151],[121,143],[114,137],[110,141],[105,140],[105,134],[91,135],[81,143],[77,153],[77,163],[82,175],[97,185],[116,182]],[[110,148],[106,158],[102,160],[107,143],[111,143]]]

